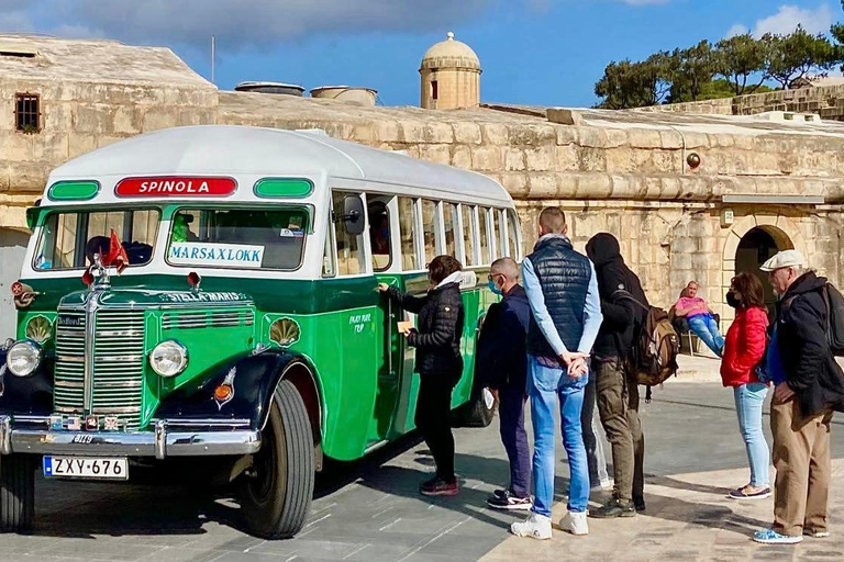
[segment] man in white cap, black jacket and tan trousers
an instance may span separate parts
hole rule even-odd
[[[770,403],[774,525],[753,537],[769,544],[830,535],[830,420],[833,409],[844,412],[844,374],[826,339],[826,279],[804,266],[802,254],[785,250],[759,268],[778,296],[767,351],[776,385]]]

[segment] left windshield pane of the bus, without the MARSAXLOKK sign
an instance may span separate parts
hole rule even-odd
[[[151,210],[67,211],[51,213],[41,229],[33,266],[37,270],[82,269],[93,256],[118,255],[116,240],[129,267],[153,258],[160,212]]]

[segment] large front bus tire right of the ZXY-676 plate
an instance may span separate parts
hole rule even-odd
[[[260,450],[241,477],[241,508],[248,531],[264,539],[289,539],[304,526],[315,475],[308,411],[290,381],[276,387]]]

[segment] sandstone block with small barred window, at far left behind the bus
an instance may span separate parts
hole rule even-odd
[[[13,322],[25,209],[49,170],[145,131],[213,123],[216,101],[167,48],[0,35],[0,336]]]

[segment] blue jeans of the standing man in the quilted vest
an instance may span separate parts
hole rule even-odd
[[[568,510],[586,512],[589,503],[589,468],[580,428],[580,411],[588,374],[571,379],[566,371],[541,366],[535,357],[528,358],[528,394],[531,397],[533,423],[533,483],[535,498],[533,512],[551,517],[554,502],[554,467],[556,440],[554,411],[559,403],[563,445],[568,456],[570,480]]]

